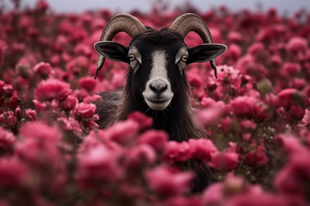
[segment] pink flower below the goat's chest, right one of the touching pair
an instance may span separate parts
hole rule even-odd
[[[217,148],[209,139],[189,139],[188,142],[193,159],[208,162],[211,160],[211,154],[217,151]]]

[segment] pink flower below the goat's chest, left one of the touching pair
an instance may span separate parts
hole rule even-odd
[[[165,146],[163,159],[168,162],[184,162],[192,158],[190,144],[186,141],[168,141]]]

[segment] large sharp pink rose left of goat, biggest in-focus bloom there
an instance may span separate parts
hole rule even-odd
[[[70,84],[56,79],[48,79],[39,83],[35,90],[35,98],[41,102],[53,99],[63,101],[71,92]]]

